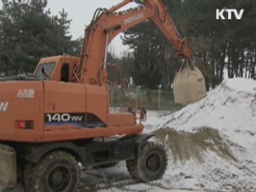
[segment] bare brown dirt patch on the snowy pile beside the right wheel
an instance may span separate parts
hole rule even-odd
[[[195,159],[202,163],[204,154],[209,151],[222,158],[237,161],[225,139],[217,130],[209,127],[202,127],[194,133],[166,128],[156,130],[154,134],[156,141],[170,151],[174,162]]]

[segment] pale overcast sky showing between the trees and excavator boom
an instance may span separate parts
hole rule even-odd
[[[94,15],[94,11],[99,8],[110,8],[122,2],[122,0],[48,0],[48,8],[52,14],[58,14],[62,8],[68,13],[68,18],[72,19],[70,24],[70,34],[73,38],[83,37],[86,25],[88,25]],[[135,3],[130,3],[125,7],[136,6]],[[123,51],[128,50],[128,46],[122,45],[120,35],[114,38],[109,46],[109,50],[120,55]]]

